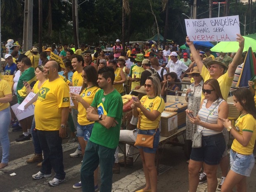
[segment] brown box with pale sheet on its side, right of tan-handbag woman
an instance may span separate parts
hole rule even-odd
[[[163,111],[161,114],[160,135],[169,137],[178,130],[178,117],[176,112]]]

